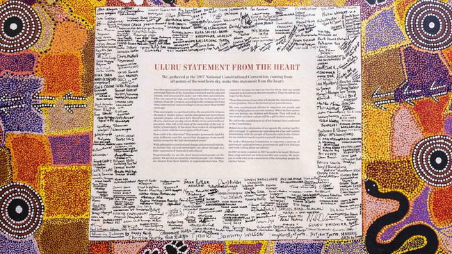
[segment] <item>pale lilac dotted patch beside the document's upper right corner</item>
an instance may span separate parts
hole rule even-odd
[[[383,10],[366,24],[366,51],[374,51],[383,46],[394,45],[405,40],[398,28],[393,9]]]

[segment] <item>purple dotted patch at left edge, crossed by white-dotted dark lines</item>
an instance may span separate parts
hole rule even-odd
[[[44,133],[44,119],[31,106],[31,96],[42,87],[42,79],[7,75],[0,77],[0,84],[0,97],[18,98],[15,101],[0,101],[0,119],[6,133]]]

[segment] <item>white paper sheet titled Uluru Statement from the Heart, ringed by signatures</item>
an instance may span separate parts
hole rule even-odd
[[[360,9],[97,8],[90,239],[362,235]]]

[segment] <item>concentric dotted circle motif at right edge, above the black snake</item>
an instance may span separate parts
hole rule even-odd
[[[414,147],[413,165],[417,174],[429,185],[444,187],[452,184],[452,138],[432,136]]]

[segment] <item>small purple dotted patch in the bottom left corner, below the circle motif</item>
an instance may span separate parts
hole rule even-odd
[[[33,237],[25,240],[15,240],[0,234],[0,254],[37,254],[38,244]]]

